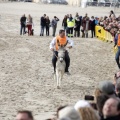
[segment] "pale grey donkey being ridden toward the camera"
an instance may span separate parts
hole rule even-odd
[[[59,89],[61,86],[61,81],[65,72],[65,47],[64,46],[59,46],[58,49],[58,57],[57,57],[57,62],[56,62],[56,76],[55,78],[57,79],[57,88]]]

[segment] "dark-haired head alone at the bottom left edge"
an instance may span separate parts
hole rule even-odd
[[[16,120],[34,120],[32,112],[28,110],[18,111]]]

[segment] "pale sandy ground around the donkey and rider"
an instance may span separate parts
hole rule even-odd
[[[76,12],[90,16],[108,15],[109,8],[36,3],[0,3],[0,119],[13,120],[17,110],[32,110],[35,120],[45,119],[60,105],[75,104],[85,94],[93,94],[101,80],[112,80],[117,66],[112,51],[113,44],[96,38],[73,38],[74,48],[69,50],[71,76],[64,75],[62,88],[56,89],[53,79],[49,43],[52,37],[39,36],[39,18],[46,13],[50,19]],[[31,14],[35,36],[20,36],[19,19]],[[117,13],[118,14],[118,13]],[[57,30],[57,31],[58,31]],[[58,33],[58,32],[57,32]],[[90,35],[89,35],[90,36]]]

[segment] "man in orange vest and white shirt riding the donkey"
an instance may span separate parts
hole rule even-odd
[[[53,64],[53,67],[54,67],[54,73],[55,73],[56,62],[57,62],[57,57],[56,56],[58,56],[57,50],[59,49],[58,42],[57,42],[58,40],[59,40],[60,45],[66,46],[67,44],[69,44],[69,46],[67,46],[67,48],[69,48],[69,49],[71,49],[73,47],[73,41],[66,37],[64,30],[60,30],[59,35],[56,36],[55,38],[53,38],[53,40],[50,43],[50,50],[54,52],[53,58],[52,58],[52,64]],[[67,75],[70,75],[70,73],[68,71],[68,68],[70,66],[70,57],[69,57],[69,54],[68,54],[67,50],[65,52],[65,62],[66,62],[65,73]]]

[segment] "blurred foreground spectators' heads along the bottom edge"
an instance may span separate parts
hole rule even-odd
[[[34,120],[34,117],[32,112],[22,110],[16,120]],[[55,117],[46,120],[120,120],[120,71],[113,82],[99,82],[94,95],[85,95],[73,105],[60,106]]]

